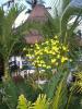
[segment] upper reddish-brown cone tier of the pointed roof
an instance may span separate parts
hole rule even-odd
[[[42,4],[36,4],[27,21],[30,22],[46,22],[49,19],[50,14],[46,10],[46,8]]]

